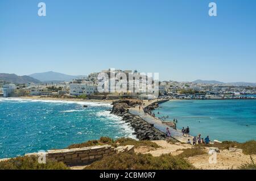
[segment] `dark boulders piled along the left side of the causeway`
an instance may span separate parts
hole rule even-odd
[[[154,125],[147,123],[141,117],[129,112],[129,108],[141,103],[140,100],[117,100],[113,102],[111,113],[123,117],[123,120],[134,129],[134,134],[139,140],[164,140],[166,138],[165,133],[159,131]]]

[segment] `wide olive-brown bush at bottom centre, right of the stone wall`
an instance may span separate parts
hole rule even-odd
[[[184,159],[161,155],[153,157],[151,154],[119,153],[102,158],[92,163],[86,170],[191,170],[195,169]]]

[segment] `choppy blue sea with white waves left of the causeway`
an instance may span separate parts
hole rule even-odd
[[[0,158],[61,149],[101,136],[134,137],[120,117],[106,111],[111,107],[104,103],[0,98]]]

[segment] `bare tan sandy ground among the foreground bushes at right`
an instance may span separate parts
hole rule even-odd
[[[158,140],[152,141],[161,146],[162,148],[151,148],[148,146],[141,146],[134,149],[135,153],[152,154],[154,157],[159,157],[162,154],[172,154],[179,155],[183,151],[180,149],[192,148],[192,145],[187,144],[169,144],[167,141]],[[205,149],[208,152],[209,149]],[[251,155],[254,162],[256,162],[256,155]],[[236,151],[221,150],[217,153],[216,162],[214,162],[214,157],[209,154],[197,155],[195,157],[185,158],[197,169],[203,170],[228,170],[228,169],[238,169],[243,164],[251,163],[250,155],[245,155],[242,150],[237,149]],[[210,161],[209,161],[210,160]]]

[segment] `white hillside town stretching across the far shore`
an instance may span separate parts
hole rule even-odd
[[[102,70],[101,73],[110,74],[111,70]],[[137,70],[114,70],[118,73],[137,76],[145,76]],[[64,82],[40,82],[40,83],[13,83],[0,80],[0,97],[20,96],[55,96],[67,98],[84,99],[152,99],[153,92],[146,91],[108,91],[99,92],[98,84],[102,79],[98,78],[100,73],[91,73],[88,76],[72,81]],[[146,76],[147,80],[147,76]],[[115,79],[115,85],[118,79]],[[139,82],[143,83],[142,81]],[[144,83],[147,83],[144,82]],[[134,86],[136,83],[133,83]],[[127,86],[129,87],[129,86]],[[109,89],[110,89],[109,85]],[[229,85],[223,83],[202,83],[202,82],[176,82],[159,81],[159,98],[165,99],[256,99],[255,86]]]

